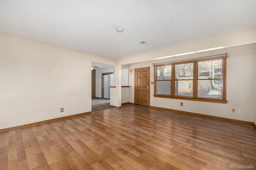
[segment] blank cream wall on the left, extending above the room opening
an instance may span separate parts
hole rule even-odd
[[[0,128],[90,112],[92,58],[116,63],[108,57],[1,34]]]

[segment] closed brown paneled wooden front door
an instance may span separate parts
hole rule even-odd
[[[149,106],[150,101],[150,67],[134,69],[134,104]]]

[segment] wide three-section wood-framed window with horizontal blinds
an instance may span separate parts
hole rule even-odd
[[[226,58],[154,65],[154,97],[227,103]]]

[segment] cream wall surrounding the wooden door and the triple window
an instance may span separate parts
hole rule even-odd
[[[130,64],[129,69],[150,66],[150,81],[154,81],[154,67],[152,63],[192,59],[222,53],[228,53],[227,104],[158,98],[153,96],[154,85],[150,85],[150,106],[252,122],[254,117],[255,44],[134,63]],[[132,86],[129,88],[129,102],[134,103],[134,74],[128,77],[129,85]],[[183,102],[183,107],[180,106],[180,102]],[[236,109],[236,113],[231,112],[232,108]],[[242,109],[242,114],[238,114],[238,109]]]

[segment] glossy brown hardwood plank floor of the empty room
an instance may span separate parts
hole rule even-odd
[[[0,169],[256,168],[256,129],[124,105],[0,133]]]

